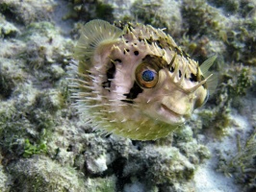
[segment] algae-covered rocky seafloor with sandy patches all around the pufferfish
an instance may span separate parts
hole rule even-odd
[[[218,87],[157,141],[92,132],[68,65],[93,18],[166,28]],[[0,0],[0,191],[256,191],[255,0]],[[90,117],[89,117],[90,118]]]

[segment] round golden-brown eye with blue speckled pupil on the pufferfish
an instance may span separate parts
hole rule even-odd
[[[141,65],[136,70],[136,81],[141,87],[152,88],[158,82],[158,73],[146,65]]]

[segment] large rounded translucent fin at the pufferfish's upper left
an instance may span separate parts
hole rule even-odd
[[[81,30],[74,57],[77,60],[89,60],[100,44],[115,43],[116,39],[122,34],[122,30],[107,21],[91,20]]]

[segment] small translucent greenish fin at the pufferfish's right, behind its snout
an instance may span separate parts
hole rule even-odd
[[[217,59],[217,55],[212,56],[208,60],[205,60],[201,65],[200,65],[200,70],[205,78],[209,77],[211,74],[213,74],[209,80],[207,80],[207,89],[209,91],[209,94],[211,95],[212,93],[215,92],[216,87],[218,85],[218,75],[216,73],[212,73],[209,71],[209,68],[214,64],[215,60]]]

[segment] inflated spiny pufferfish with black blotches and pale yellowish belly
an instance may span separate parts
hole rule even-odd
[[[207,100],[215,81],[164,30],[103,20],[88,22],[71,63],[72,97],[95,130],[135,140],[168,135]]]

